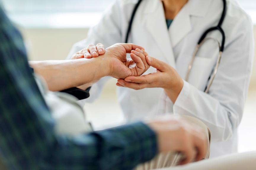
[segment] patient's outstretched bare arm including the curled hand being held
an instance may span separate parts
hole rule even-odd
[[[51,91],[61,91],[71,87],[90,84],[104,76],[125,78],[129,75],[141,75],[144,64],[140,57],[126,58],[140,46],[133,44],[115,44],[106,49],[106,53],[96,58],[80,58],[65,61],[31,61],[35,72],[41,75]],[[141,69],[138,69],[141,67]]]

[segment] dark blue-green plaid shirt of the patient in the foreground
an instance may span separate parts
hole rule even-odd
[[[0,77],[0,159],[9,169],[125,170],[157,153],[156,135],[142,122],[76,137],[56,135],[22,37],[1,8]]]

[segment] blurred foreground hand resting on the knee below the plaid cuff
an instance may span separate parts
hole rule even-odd
[[[148,123],[157,134],[160,153],[183,153],[185,159],[181,165],[191,161],[200,161],[207,154],[207,138],[203,130],[178,116],[161,117]]]

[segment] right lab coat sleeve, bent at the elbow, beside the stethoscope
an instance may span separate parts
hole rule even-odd
[[[252,22],[243,16],[233,27],[208,94],[184,81],[174,114],[194,116],[212,132],[212,141],[228,140],[239,126],[249,88],[254,56]]]

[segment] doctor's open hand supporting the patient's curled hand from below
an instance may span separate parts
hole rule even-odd
[[[167,96],[175,103],[183,88],[183,79],[174,68],[163,61],[149,56],[146,57],[146,61],[149,66],[156,68],[155,73],[145,76],[129,76],[124,80],[119,79],[116,85],[135,90],[156,87],[163,88]]]

